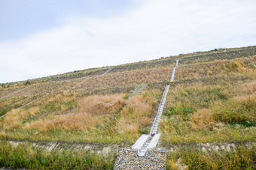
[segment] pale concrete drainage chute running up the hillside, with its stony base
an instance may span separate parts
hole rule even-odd
[[[176,67],[178,67],[178,60],[176,60],[175,67],[172,69],[170,82],[174,80]],[[160,133],[157,133],[157,129],[163,114],[169,87],[170,84],[166,85],[163,91],[163,97],[160,101],[150,133],[140,136],[132,146],[133,150],[120,149],[117,160],[114,163],[114,169],[166,169],[166,151],[157,151],[154,149],[157,147],[160,139]]]

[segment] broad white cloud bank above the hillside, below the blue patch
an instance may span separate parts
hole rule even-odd
[[[69,18],[59,28],[0,43],[0,82],[255,45],[254,9],[249,0],[150,0],[108,19]]]

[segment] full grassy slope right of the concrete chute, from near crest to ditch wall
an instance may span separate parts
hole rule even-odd
[[[254,141],[255,65],[256,55],[179,67],[160,124],[164,143]]]

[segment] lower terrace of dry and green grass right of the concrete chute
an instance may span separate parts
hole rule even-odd
[[[160,124],[163,143],[253,140],[256,82],[247,73],[239,74],[246,74],[251,82],[230,76],[223,84],[198,81],[171,88]]]

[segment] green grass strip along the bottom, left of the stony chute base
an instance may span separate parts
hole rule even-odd
[[[30,145],[0,143],[0,166],[11,169],[112,169],[114,157],[86,151],[46,151]]]

